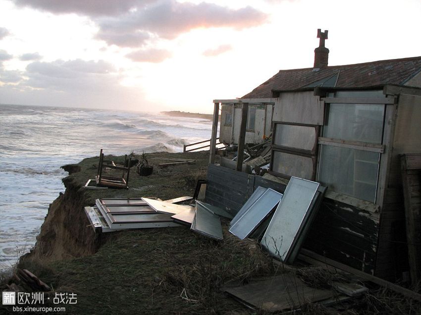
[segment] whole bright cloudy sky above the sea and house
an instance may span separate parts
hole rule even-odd
[[[0,0],[0,104],[210,113],[281,69],[421,56],[421,0]]]

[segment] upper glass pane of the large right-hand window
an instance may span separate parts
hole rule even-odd
[[[329,104],[323,137],[381,144],[384,105]]]

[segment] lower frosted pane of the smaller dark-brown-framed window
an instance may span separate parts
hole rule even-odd
[[[272,171],[306,179],[313,177],[313,159],[284,152],[273,152]]]

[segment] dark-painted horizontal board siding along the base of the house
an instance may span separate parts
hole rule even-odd
[[[235,214],[257,187],[280,193],[286,185],[218,165],[209,165],[206,202]],[[361,209],[324,198],[304,247],[327,258],[373,274],[377,248],[377,207]]]

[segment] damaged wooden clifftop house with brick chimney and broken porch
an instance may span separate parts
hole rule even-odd
[[[241,172],[245,144],[272,134],[270,174],[327,187],[303,247],[387,280],[411,271],[417,281],[420,186],[409,218],[401,157],[421,155],[421,57],[329,66],[327,31],[317,37],[313,67],[214,100],[206,202],[235,214],[257,187],[285,189]],[[237,171],[213,163],[219,110],[220,141],[238,144]]]

